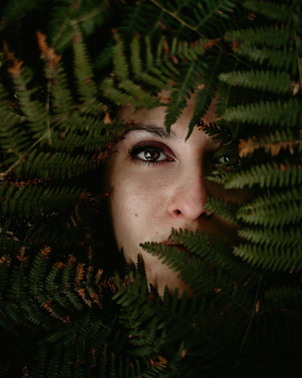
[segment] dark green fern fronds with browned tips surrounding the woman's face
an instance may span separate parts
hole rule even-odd
[[[1,374],[175,378],[233,375],[243,366],[244,375],[268,356],[272,364],[296,358],[300,3],[0,7]],[[166,244],[143,243],[189,288],[160,297],[140,256],[125,277],[112,277],[116,261],[100,235],[100,166],[128,126],[114,119],[117,106],[131,107],[134,118],[164,106],[169,131],[193,93],[187,138],[198,124],[228,156],[205,180],[230,197],[208,197],[204,209],[238,226],[240,243],[180,228]],[[207,125],[213,99],[219,118]],[[247,201],[228,199],[242,189]]]

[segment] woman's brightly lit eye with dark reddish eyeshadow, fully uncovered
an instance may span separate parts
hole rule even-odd
[[[132,160],[139,164],[160,164],[165,161],[174,161],[170,156],[171,150],[164,144],[155,141],[146,141],[136,144],[128,151]]]

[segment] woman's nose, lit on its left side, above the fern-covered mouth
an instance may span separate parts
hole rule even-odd
[[[175,180],[168,211],[173,218],[196,220],[211,213],[204,209],[207,190],[202,170],[189,170]]]

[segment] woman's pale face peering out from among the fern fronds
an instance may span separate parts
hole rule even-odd
[[[125,139],[116,145],[117,153],[106,163],[109,209],[117,246],[127,263],[136,263],[140,254],[149,283],[162,295],[165,286],[186,288],[177,273],[156,256],[143,251],[140,243],[164,243],[171,228],[205,232],[233,245],[237,228],[204,209],[207,196],[243,202],[242,191],[225,190],[206,179],[223,162],[219,144],[198,127],[185,141],[194,102],[189,100],[182,116],[168,134],[163,125],[165,108],[140,110],[134,116],[124,108],[119,117],[134,120]],[[203,118],[214,122],[214,108]]]

